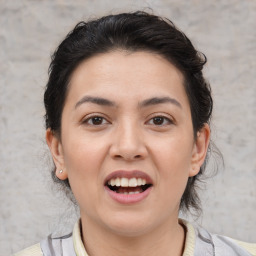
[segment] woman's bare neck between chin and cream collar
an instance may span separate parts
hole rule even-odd
[[[181,256],[184,250],[185,232],[178,218],[150,232],[134,236],[116,234],[82,216],[81,220],[82,239],[90,256]]]

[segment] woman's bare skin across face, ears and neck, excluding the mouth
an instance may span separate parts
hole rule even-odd
[[[172,101],[142,105],[154,97]],[[148,52],[94,56],[72,74],[61,125],[61,135],[48,129],[46,140],[56,175],[69,179],[80,206],[89,255],[182,255],[180,199],[204,162],[210,130],[205,124],[194,138],[181,72]],[[151,177],[144,200],[124,205],[106,193],[104,179],[120,169]]]

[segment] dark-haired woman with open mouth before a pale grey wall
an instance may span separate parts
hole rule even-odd
[[[255,244],[178,218],[200,210],[212,112],[205,62],[170,21],[144,12],[68,34],[49,69],[46,141],[81,219],[18,255],[256,255]]]

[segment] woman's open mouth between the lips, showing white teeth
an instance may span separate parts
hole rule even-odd
[[[110,190],[118,194],[132,195],[146,191],[152,186],[143,178],[112,178],[105,184]]]

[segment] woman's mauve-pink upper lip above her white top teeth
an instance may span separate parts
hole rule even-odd
[[[106,185],[109,180],[115,179],[115,178],[127,178],[127,179],[141,178],[141,179],[145,179],[147,184],[153,184],[153,181],[152,181],[151,177],[145,172],[142,172],[142,171],[139,171],[139,170],[131,170],[131,171],[117,170],[117,171],[114,171],[114,172],[110,173],[105,178],[104,185]]]

